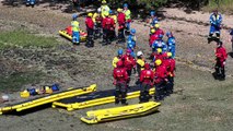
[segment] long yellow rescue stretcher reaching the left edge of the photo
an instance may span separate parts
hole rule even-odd
[[[53,102],[56,102],[59,99],[83,95],[83,94],[92,93],[95,91],[96,91],[96,84],[93,84],[93,85],[90,85],[89,87],[78,87],[78,88],[54,93],[51,95],[46,95],[39,98],[30,99],[26,102],[22,102],[20,104],[14,104],[12,106],[0,107],[0,115],[10,112],[10,111],[22,111],[25,109],[31,109],[45,104],[51,104]]]

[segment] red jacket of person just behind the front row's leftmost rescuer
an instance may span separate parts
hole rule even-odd
[[[136,60],[130,55],[129,56],[124,55],[121,60],[123,60],[123,63],[124,63],[124,67],[126,68],[126,70],[131,70],[132,68],[136,67]]]

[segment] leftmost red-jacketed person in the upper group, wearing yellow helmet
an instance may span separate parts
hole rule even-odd
[[[94,33],[94,22],[92,20],[93,14],[89,13],[85,19],[86,32],[88,32],[88,40],[86,47],[94,47],[93,33]]]

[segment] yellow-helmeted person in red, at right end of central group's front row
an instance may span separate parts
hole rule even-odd
[[[165,97],[165,86],[167,83],[167,71],[166,67],[162,64],[162,60],[158,59],[155,61],[155,73],[154,73],[154,85],[155,85],[155,94],[154,100],[160,102]]]

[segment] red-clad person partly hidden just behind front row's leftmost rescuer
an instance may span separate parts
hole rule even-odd
[[[126,53],[123,56],[121,60],[123,60],[124,67],[126,68],[126,71],[127,71],[129,76],[131,76],[132,69],[136,73],[136,60],[131,56],[130,49],[126,50]],[[130,82],[130,79],[128,79],[127,84],[129,84],[129,82]]]

